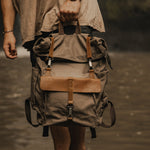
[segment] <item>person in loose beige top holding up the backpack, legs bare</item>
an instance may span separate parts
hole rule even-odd
[[[22,45],[31,51],[31,62],[34,66],[32,47],[40,36],[47,36],[56,31],[58,19],[72,24],[77,18],[81,32],[100,35],[105,32],[103,19],[97,0],[1,0],[4,22],[3,49],[7,58],[17,58],[16,39],[13,26],[16,12],[20,15]],[[69,28],[68,28],[69,29]],[[51,126],[55,150],[85,150],[85,127]]]

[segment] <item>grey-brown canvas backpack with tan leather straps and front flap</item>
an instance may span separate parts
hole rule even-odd
[[[59,33],[39,38],[33,47],[36,66],[32,67],[31,97],[25,101],[28,122],[42,125],[48,136],[49,125],[79,124],[109,128],[115,124],[114,106],[104,91],[108,68],[111,67],[104,39],[80,31],[77,22],[74,34],[65,34],[59,23]],[[103,113],[110,104],[111,124],[103,122]],[[37,112],[38,124],[33,124],[31,108]]]

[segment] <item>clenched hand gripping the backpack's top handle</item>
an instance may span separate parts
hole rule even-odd
[[[60,8],[59,17],[62,22],[71,22],[78,19],[81,2],[80,0],[66,0]]]

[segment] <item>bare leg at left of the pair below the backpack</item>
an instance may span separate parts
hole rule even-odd
[[[69,150],[71,143],[69,128],[61,126],[51,126],[50,128],[55,150]]]

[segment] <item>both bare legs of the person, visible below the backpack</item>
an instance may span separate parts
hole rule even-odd
[[[55,150],[85,150],[85,127],[51,126]]]

